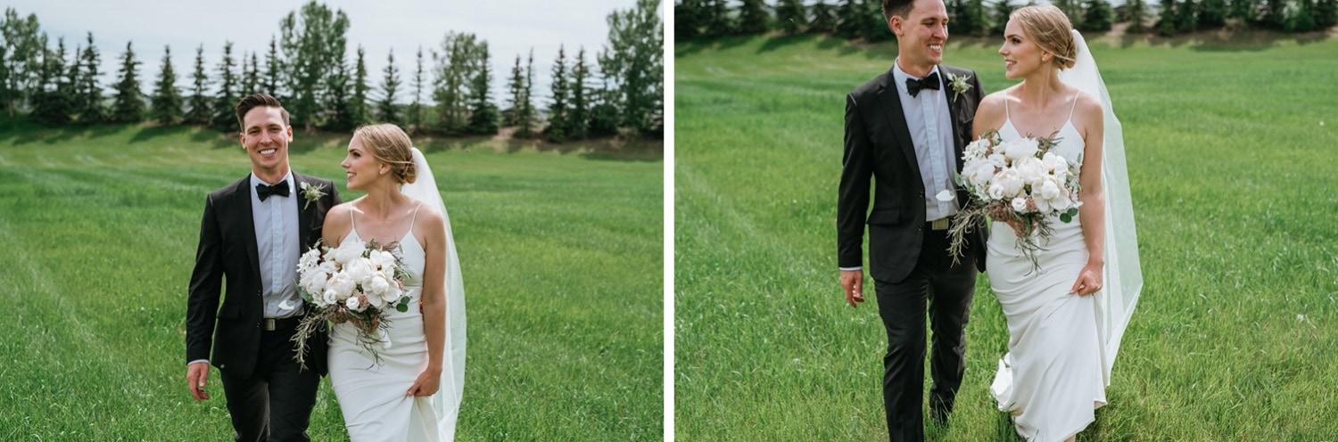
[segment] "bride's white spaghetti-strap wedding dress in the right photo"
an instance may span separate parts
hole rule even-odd
[[[1005,142],[1021,138],[1012,119],[999,136]],[[1057,136],[1050,151],[1077,171],[1085,144],[1072,111]],[[990,228],[986,258],[990,287],[1009,328],[1009,353],[999,361],[990,391],[999,410],[1013,415],[1018,434],[1041,442],[1064,441],[1092,423],[1093,410],[1105,405],[1107,386],[1094,296],[1069,294],[1088,260],[1082,224],[1078,216],[1069,223],[1052,216],[1050,226],[1050,238],[1036,239],[1038,270],[1004,222]]]

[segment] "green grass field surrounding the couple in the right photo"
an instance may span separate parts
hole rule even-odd
[[[1092,40],[1145,286],[1111,405],[1078,439],[1338,441],[1338,41]],[[954,37],[945,60],[993,92],[1012,84],[998,44]],[[876,300],[842,298],[835,204],[843,96],[895,43],[674,51],[678,438],[886,439],[886,335]],[[957,411],[931,441],[1017,439],[987,393],[1008,328],[977,287]]]

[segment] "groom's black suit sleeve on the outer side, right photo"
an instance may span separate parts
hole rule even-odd
[[[864,222],[868,216],[868,183],[874,160],[868,132],[855,95],[846,95],[846,152],[842,156],[840,188],[836,200],[838,267],[864,263]]]

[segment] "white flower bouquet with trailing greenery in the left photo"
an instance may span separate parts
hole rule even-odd
[[[359,341],[376,357],[372,345],[381,342],[389,326],[388,311],[408,311],[404,295],[404,264],[392,247],[345,239],[339,247],[317,242],[297,262],[297,292],[312,311],[297,327],[297,362],[305,366],[306,339],[325,320],[352,322]],[[379,358],[377,358],[379,359]]]

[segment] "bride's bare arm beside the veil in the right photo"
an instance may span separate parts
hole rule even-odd
[[[1090,295],[1101,290],[1101,267],[1105,266],[1105,190],[1101,188],[1101,150],[1105,143],[1105,122],[1096,97],[1081,93],[1077,118],[1082,132],[1082,170],[1080,174],[1078,220],[1082,223],[1082,242],[1088,247],[1088,262],[1078,272],[1069,292]]]

